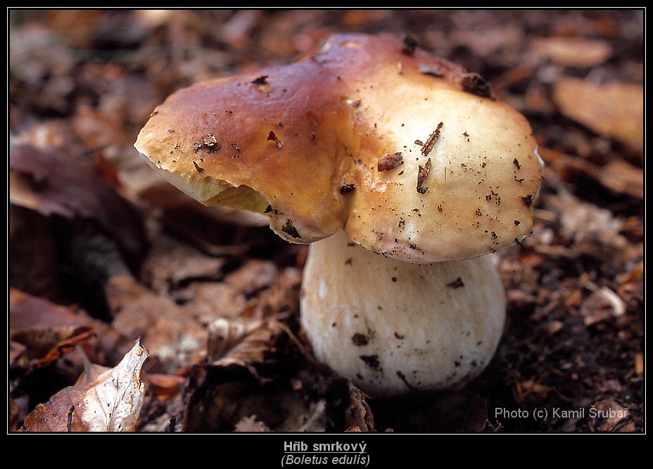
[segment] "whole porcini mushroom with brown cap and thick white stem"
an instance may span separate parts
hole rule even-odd
[[[531,127],[478,75],[389,34],[181,89],[134,146],[205,205],[312,243],[301,323],[371,395],[458,387],[495,352],[505,295],[485,254],[532,230]]]

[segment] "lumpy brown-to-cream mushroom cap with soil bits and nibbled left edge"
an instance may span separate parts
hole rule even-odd
[[[201,203],[266,212],[293,243],[344,229],[418,263],[528,236],[542,177],[521,114],[390,35],[336,35],[291,65],[179,90],[135,146]]]

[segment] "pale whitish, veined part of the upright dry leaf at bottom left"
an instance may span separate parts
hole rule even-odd
[[[82,421],[89,431],[136,430],[146,390],[141,367],[147,356],[137,341],[118,366],[102,373],[84,393]]]

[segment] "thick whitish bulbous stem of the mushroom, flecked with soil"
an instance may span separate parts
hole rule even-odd
[[[303,329],[319,361],[373,397],[462,387],[495,353],[505,310],[487,255],[412,264],[343,231],[310,245]]]

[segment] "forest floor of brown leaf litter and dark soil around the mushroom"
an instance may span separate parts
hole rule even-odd
[[[82,401],[125,366],[137,432],[645,432],[645,11],[11,10],[8,27],[9,432],[88,430]],[[172,91],[334,32],[409,34],[540,146],[533,236],[496,254],[505,333],[462,390],[372,399],[317,364],[305,246],[201,207],[133,148]]]

